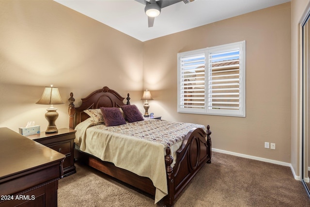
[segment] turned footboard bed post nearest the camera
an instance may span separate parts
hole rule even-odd
[[[167,172],[167,184],[168,184],[168,195],[165,198],[164,204],[165,207],[172,207],[174,203],[174,176],[172,174],[173,168],[171,164],[173,162],[173,157],[171,156],[171,149],[168,146],[166,148],[166,156],[165,156],[165,164],[166,164],[166,172]]]

